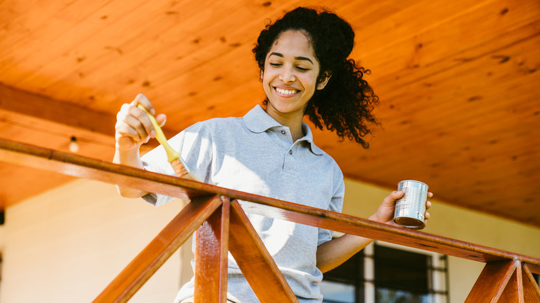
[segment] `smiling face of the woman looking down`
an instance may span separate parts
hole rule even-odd
[[[297,30],[281,33],[264,61],[262,87],[268,98],[267,113],[282,125],[300,123],[316,89],[319,64],[306,35]],[[290,127],[290,125],[289,125]]]

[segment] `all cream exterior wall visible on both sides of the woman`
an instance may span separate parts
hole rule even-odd
[[[343,212],[357,217],[375,212],[391,190],[349,180],[346,188]],[[539,228],[432,202],[425,232],[540,257]],[[181,207],[177,200],[154,208],[120,198],[113,185],[78,180],[8,208],[0,227],[0,302],[91,302]],[[172,302],[192,275],[190,246],[186,241],[130,302]],[[465,300],[483,266],[449,259],[452,303]]]

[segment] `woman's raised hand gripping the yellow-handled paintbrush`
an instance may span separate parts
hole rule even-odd
[[[150,138],[156,136],[152,122],[142,109],[137,107],[141,104],[145,109],[155,115],[156,111],[152,102],[145,95],[139,93],[129,104],[123,104],[116,115],[116,149],[118,152],[138,151],[143,143],[147,143]],[[165,115],[163,113],[155,116],[156,122],[163,126]]]

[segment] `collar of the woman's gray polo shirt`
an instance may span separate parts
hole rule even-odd
[[[254,133],[262,133],[264,131],[267,131],[268,129],[271,129],[272,127],[281,127],[280,123],[276,120],[274,120],[269,114],[264,111],[264,109],[257,104],[251,111],[246,113],[244,116],[244,123],[246,123],[246,127],[253,131]],[[314,154],[320,155],[324,154],[323,150],[318,148],[315,143],[313,143],[313,133],[312,130],[309,129],[309,126],[302,122],[302,130],[304,131],[305,136],[300,138],[298,141],[306,141],[309,143],[309,147],[311,147],[311,151]]]

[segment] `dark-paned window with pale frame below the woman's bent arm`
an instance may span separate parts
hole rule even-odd
[[[325,273],[327,303],[445,303],[447,256],[384,242]]]

